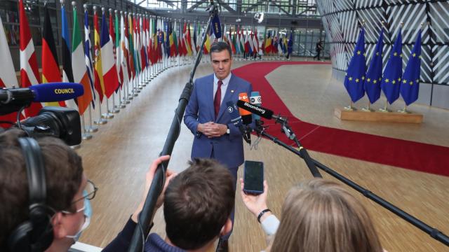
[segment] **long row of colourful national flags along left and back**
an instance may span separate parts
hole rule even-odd
[[[46,104],[32,103],[21,118],[36,116],[43,106],[69,106],[81,115],[93,106],[95,100],[102,103],[118,92],[124,83],[135,80],[147,67],[163,59],[178,56],[196,56],[199,52],[208,54],[214,41],[226,41],[234,54],[256,55],[279,52],[290,55],[293,46],[293,31],[290,37],[272,31],[264,34],[262,44],[257,29],[229,26],[225,36],[216,38],[202,22],[172,22],[168,19],[147,15],[126,14],[112,9],[109,11],[94,6],[93,20],[90,20],[87,6],[84,6],[84,36],[81,34],[76,5],[72,12],[72,32],[69,30],[69,16],[66,6],[61,5],[62,59],[56,53],[55,38],[48,7],[44,6],[42,27],[42,72],[39,73],[34,42],[29,29],[23,0],[19,0],[20,19],[20,85],[15,78],[8,38],[3,24],[0,30],[0,52],[7,66],[0,69],[0,87],[29,87],[40,83],[81,83],[84,94],[77,99]],[[101,21],[99,20],[101,17]],[[81,20],[80,20],[81,21]],[[93,22],[93,42],[91,27]],[[1,22],[1,19],[0,19]],[[226,29],[225,29],[226,30]],[[201,42],[206,36],[206,43]],[[83,39],[84,38],[84,39]],[[62,65],[62,69],[60,66]],[[11,118],[15,118],[15,115]],[[11,118],[2,117],[1,120]]]

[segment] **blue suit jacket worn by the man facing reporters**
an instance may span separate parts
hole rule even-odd
[[[229,168],[239,167],[243,164],[243,138],[240,130],[231,123],[230,114],[227,112],[228,101],[237,103],[239,93],[251,94],[253,88],[248,81],[232,74],[226,90],[225,98],[220,106],[217,120],[213,109],[213,74],[198,78],[194,83],[194,90],[184,115],[184,123],[194,134],[192,146],[192,158],[211,158],[212,150],[214,157]],[[196,132],[199,123],[215,122],[227,125],[230,134],[221,137],[208,138]]]

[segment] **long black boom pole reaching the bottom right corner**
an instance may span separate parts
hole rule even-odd
[[[276,119],[276,122],[278,122],[277,119]],[[282,121],[280,121],[280,122],[282,122]],[[286,120],[284,123],[286,124]],[[284,127],[284,125],[283,125],[283,127]],[[286,127],[287,127],[287,130],[290,130],[290,132],[292,132],[291,129],[289,129],[288,125],[286,125]],[[366,188],[359,186],[357,183],[355,183],[354,181],[351,181],[350,179],[347,179],[342,174],[339,174],[338,172],[335,172],[333,169],[326,167],[326,165],[321,164],[321,162],[318,162],[318,161],[314,160],[313,158],[310,158],[307,151],[305,151],[305,149],[302,146],[300,146],[296,137],[295,137],[296,140],[295,139],[293,139],[293,140],[296,142],[296,144],[298,146],[300,146],[300,151],[293,148],[292,146],[289,146],[288,144],[284,143],[283,141],[280,141],[279,139],[272,136],[271,134],[268,134],[264,130],[265,130],[265,127],[263,127],[262,124],[260,124],[259,127],[256,127],[256,129],[255,129],[258,136],[262,135],[263,137],[267,137],[268,139],[274,141],[274,143],[279,144],[283,148],[288,149],[288,151],[291,151],[291,152],[295,153],[296,155],[299,155],[300,158],[302,158],[302,159],[304,159],[304,161],[306,161],[306,163],[308,162],[306,160],[306,158],[308,158],[309,161],[313,162],[313,164],[316,167],[319,167],[319,169],[328,173],[330,176],[333,176],[335,179],[342,181],[343,183],[347,184],[347,186],[350,186],[354,190],[358,191],[358,193],[363,194],[368,199],[373,200],[373,202],[376,202],[384,209],[391,211],[391,213],[396,214],[396,216],[403,218],[403,220],[414,225],[416,228],[419,228],[420,230],[426,232],[432,238],[436,239],[437,241],[440,241],[441,243],[445,244],[446,246],[449,246],[449,237],[447,235],[444,235],[443,232],[441,232],[440,230],[437,230],[436,228],[432,228],[431,226],[427,225],[426,223],[420,221],[420,219],[415,218],[414,216],[406,213],[402,209],[399,209],[398,207],[394,206],[394,204],[391,204],[390,202],[387,202],[386,200],[382,199],[382,197],[375,195],[370,190],[367,190]],[[284,130],[284,133],[286,133],[285,130]],[[291,139],[289,137],[288,133],[286,133],[286,134],[287,134],[287,137],[289,139]],[[302,150],[304,150],[304,151],[302,151]],[[304,153],[305,153],[305,155],[304,155]],[[309,169],[310,169],[310,167],[309,167]],[[313,172],[312,172],[312,174],[313,174]]]

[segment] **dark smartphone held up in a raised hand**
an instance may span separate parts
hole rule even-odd
[[[260,195],[264,192],[264,163],[245,161],[243,171],[243,193]]]

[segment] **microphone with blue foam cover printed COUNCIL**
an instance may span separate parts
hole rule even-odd
[[[0,115],[19,111],[32,102],[60,102],[84,94],[79,83],[44,83],[24,88],[0,89]]]

